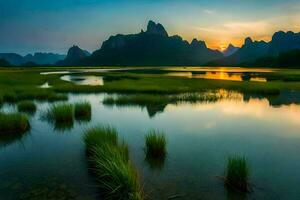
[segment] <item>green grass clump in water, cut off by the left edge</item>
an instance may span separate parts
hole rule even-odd
[[[0,113],[0,135],[22,134],[30,129],[28,118],[19,113]]]

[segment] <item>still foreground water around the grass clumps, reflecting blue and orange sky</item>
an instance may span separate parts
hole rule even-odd
[[[144,107],[104,106],[105,94],[70,95],[70,102],[92,104],[90,122],[56,129],[41,119],[50,106],[38,103],[31,130],[22,138],[0,138],[0,199],[99,199],[86,163],[83,133],[97,124],[115,126],[129,144],[150,199],[300,199],[300,106],[272,106],[264,98],[229,95],[217,102]],[[16,108],[4,105],[10,112]],[[167,158],[160,167],[145,161],[149,129],[167,136]],[[228,192],[224,175],[230,155],[244,155],[254,191]]]

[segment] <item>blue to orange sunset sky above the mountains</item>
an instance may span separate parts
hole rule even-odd
[[[109,36],[138,33],[154,20],[170,35],[222,50],[248,36],[269,41],[300,31],[299,0],[0,0],[0,52],[88,51]]]

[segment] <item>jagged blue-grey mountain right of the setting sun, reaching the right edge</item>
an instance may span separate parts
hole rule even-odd
[[[270,58],[276,57],[282,53],[300,49],[300,33],[279,31],[274,33],[270,42],[252,41],[251,38],[246,38],[244,45],[234,54],[221,58],[212,62],[209,65],[248,65],[259,62],[270,61]]]

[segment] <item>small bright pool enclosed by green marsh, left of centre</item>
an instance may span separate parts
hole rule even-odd
[[[101,76],[94,75],[64,75],[61,80],[73,82],[77,85],[99,86],[104,84]]]

